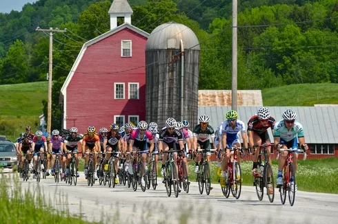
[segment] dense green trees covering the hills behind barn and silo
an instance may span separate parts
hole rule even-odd
[[[141,30],[150,33],[176,21],[195,32],[201,45],[199,89],[231,88],[231,0],[129,2],[132,24]],[[49,38],[35,28],[67,28],[54,33],[52,123],[59,127],[59,90],[83,43],[110,29],[110,5],[102,0],[39,0],[21,12],[0,13],[0,84],[46,80]],[[335,0],[239,1],[239,89],[337,83],[337,29]]]

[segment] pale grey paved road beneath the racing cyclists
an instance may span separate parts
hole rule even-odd
[[[83,175],[82,175],[83,177]],[[276,191],[275,201],[270,203],[266,195],[257,199],[255,188],[244,186],[236,200],[223,197],[218,185],[209,196],[199,194],[197,183],[192,182],[190,192],[181,192],[178,198],[167,197],[160,183],[157,190],[134,192],[117,185],[88,187],[86,179],[79,179],[77,186],[54,183],[52,177],[22,182],[23,189],[37,191],[40,186],[46,197],[57,208],[68,207],[73,214],[82,215],[88,221],[112,223],[337,223],[338,195],[298,191],[295,205],[281,205]],[[288,200],[288,199],[287,199]],[[59,207],[58,207],[59,206]],[[188,214],[188,215],[187,215]],[[103,218],[102,218],[103,217]],[[187,220],[188,219],[188,220]]]

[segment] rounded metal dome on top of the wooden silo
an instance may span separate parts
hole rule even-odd
[[[172,39],[173,45],[169,48],[180,49],[181,40],[183,40],[184,49],[199,50],[199,40],[195,33],[186,25],[169,22],[159,25],[152,30],[146,45],[146,50],[168,49],[168,40]]]

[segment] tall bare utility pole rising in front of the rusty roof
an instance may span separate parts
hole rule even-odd
[[[232,0],[232,89],[231,108],[237,111],[237,0]]]

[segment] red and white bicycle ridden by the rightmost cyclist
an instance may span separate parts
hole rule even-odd
[[[292,162],[293,153],[304,153],[304,160],[306,159],[306,151],[299,148],[280,148],[279,153],[288,152],[286,156],[286,161],[283,166],[283,185],[279,186],[279,194],[281,196],[281,204],[284,205],[286,201],[286,192],[288,192],[288,198],[290,205],[292,206],[295,203],[295,195],[296,195],[296,174],[295,174],[295,166]],[[278,159],[279,155],[277,155]],[[290,179],[293,177],[293,181]],[[292,183],[293,182],[293,183]]]

